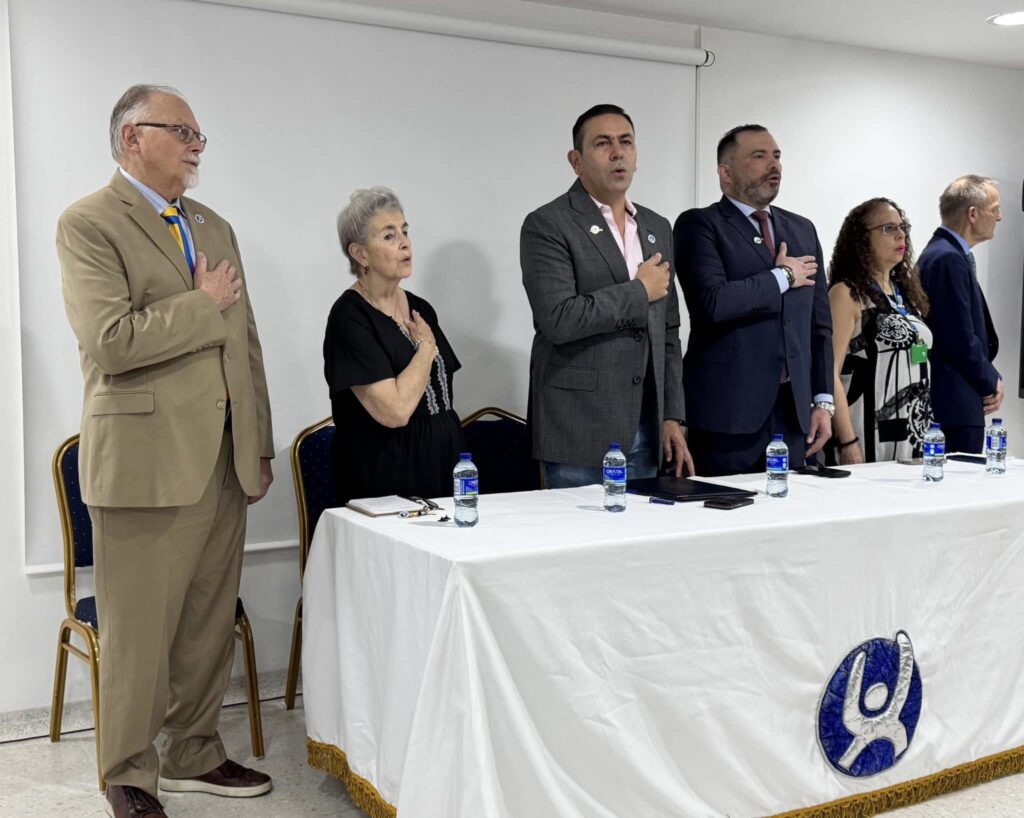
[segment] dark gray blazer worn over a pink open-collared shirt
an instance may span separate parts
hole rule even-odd
[[[644,259],[660,253],[671,265],[669,222],[636,208]],[[660,451],[662,421],[683,417],[675,270],[668,297],[649,303],[643,284],[630,281],[614,236],[579,180],[526,217],[519,262],[534,312],[534,457],[600,466],[609,443],[629,450],[640,425],[648,360],[657,390]]]

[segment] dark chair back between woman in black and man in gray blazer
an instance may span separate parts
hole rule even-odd
[[[462,421],[462,432],[482,475],[481,493],[544,487],[541,465],[529,456],[526,421],[518,415],[486,406]]]

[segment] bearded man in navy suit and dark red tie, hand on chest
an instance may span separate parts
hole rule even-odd
[[[810,221],[769,207],[780,156],[763,126],[733,128],[718,144],[721,201],[676,220],[676,269],[690,313],[685,421],[697,474],[764,469],[776,433],[798,467],[831,435],[821,245]]]

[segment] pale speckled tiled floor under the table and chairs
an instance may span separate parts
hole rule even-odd
[[[253,761],[249,756],[249,721],[245,705],[225,707],[221,717],[221,735],[228,752],[237,761],[272,775],[272,792],[258,799],[167,793],[163,795],[163,802],[168,815],[172,818],[210,815],[228,818],[365,818],[352,806],[339,781],[319,770],[310,769],[306,764],[305,721],[301,702],[300,697],[294,711],[286,711],[282,699],[263,702],[266,758],[260,762]],[[96,788],[92,731],[66,735],[57,744],[50,743],[46,738],[0,744],[0,818],[53,815],[76,818],[105,815]],[[885,813],[885,818],[1020,816],[1024,816],[1024,776],[1002,778],[915,807]]]

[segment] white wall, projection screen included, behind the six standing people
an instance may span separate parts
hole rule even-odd
[[[75,428],[80,401],[53,225],[60,209],[110,176],[105,119],[131,82],[179,85],[210,133],[198,196],[240,234],[281,450],[298,428],[328,413],[319,333],[349,281],[332,222],[357,185],[389,183],[406,199],[416,240],[413,288],[437,306],[466,364],[457,380],[459,408],[524,408],[530,328],[519,285],[519,223],[568,185],[571,121],[606,98],[626,104],[637,121],[637,200],[670,220],[694,201],[718,198],[721,133],[739,122],[767,125],[783,150],[778,203],[815,220],[826,255],[843,216],[865,198],[884,193],[903,205],[922,248],[949,179],[966,172],[999,179],[1006,219],[979,249],[980,274],[1002,339],[1004,414],[1011,433],[1024,429],[1014,397],[1024,73],[706,30],[702,45],[718,61],[698,72],[695,119],[692,72],[678,68],[173,0],[9,2],[19,281],[5,277],[0,293],[16,299],[20,285],[23,350],[0,350],[0,384],[15,395],[0,399],[0,434],[20,421],[23,386],[25,433],[0,441],[2,461],[11,463],[24,440],[29,499],[26,533],[18,508],[0,529],[0,659],[17,669],[0,675],[0,712],[48,700],[62,606],[59,577],[28,578],[23,569],[26,553],[30,562],[56,559],[48,462]],[[180,58],[172,63],[165,54]],[[269,205],[251,211],[250,199]],[[8,303],[6,314],[16,315],[17,306]],[[254,541],[294,537],[287,464],[276,466],[273,494],[252,520]],[[0,487],[15,490],[19,479],[4,474]],[[267,670],[287,661],[295,573],[291,551],[246,559],[243,595]],[[75,673],[69,695],[85,697],[84,677]]]

